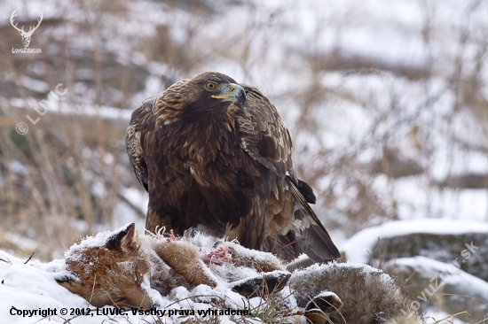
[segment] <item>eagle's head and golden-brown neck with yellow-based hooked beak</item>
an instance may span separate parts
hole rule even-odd
[[[180,159],[209,161],[218,151],[233,154],[237,114],[246,104],[246,91],[222,73],[207,72],[179,81],[153,101],[155,128],[169,138],[167,145]]]

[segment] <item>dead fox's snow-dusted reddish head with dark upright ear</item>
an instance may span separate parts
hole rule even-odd
[[[90,302],[101,307],[137,307],[150,309],[151,298],[141,288],[150,265],[139,250],[134,223],[98,243],[98,236],[73,245],[66,254],[67,270],[75,278],[57,282]]]

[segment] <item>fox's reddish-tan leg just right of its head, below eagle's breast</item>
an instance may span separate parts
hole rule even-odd
[[[162,260],[193,286],[216,287],[216,278],[200,259],[198,248],[191,243],[173,241],[160,243],[154,249]]]

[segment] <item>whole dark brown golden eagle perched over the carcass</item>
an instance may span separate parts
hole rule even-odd
[[[296,178],[287,127],[256,88],[221,73],[179,81],[132,113],[126,147],[149,193],[147,230],[196,228],[287,260],[340,257]]]

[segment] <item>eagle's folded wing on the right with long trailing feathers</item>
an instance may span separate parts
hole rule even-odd
[[[284,181],[282,189],[291,189],[290,194],[280,194],[273,188],[279,199],[293,199],[295,212],[291,215],[287,228],[282,228],[273,250],[287,259],[289,255],[305,252],[316,261],[340,258],[340,253],[328,235],[317,215],[308,203],[315,203],[311,187],[295,177],[291,158],[292,142],[287,127],[271,102],[256,88],[240,84],[246,90],[246,104],[243,114],[237,116],[240,129],[241,147],[257,162],[266,166]],[[306,198],[305,198],[306,197]],[[293,231],[290,233],[290,231]],[[299,246],[291,247],[293,236]],[[270,248],[268,238],[266,244]],[[287,243],[287,244],[286,244]],[[293,251],[288,251],[293,249]],[[280,252],[281,251],[281,252]]]

